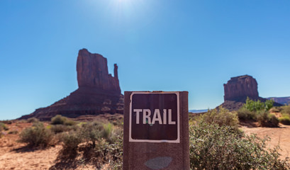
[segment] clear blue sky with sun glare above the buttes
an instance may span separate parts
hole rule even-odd
[[[288,0],[1,0],[0,120],[77,89],[82,48],[118,64],[122,93],[189,91],[189,109],[220,105],[243,74],[290,96]]]

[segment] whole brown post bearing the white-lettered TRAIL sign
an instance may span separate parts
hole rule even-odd
[[[189,169],[187,91],[125,91],[123,169]]]

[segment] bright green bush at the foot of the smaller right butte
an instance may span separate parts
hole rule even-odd
[[[246,103],[243,105],[243,107],[247,108],[247,110],[249,111],[269,111],[270,108],[273,107],[273,104],[274,101],[272,100],[267,100],[263,103],[260,100],[252,101],[250,98],[247,98]]]

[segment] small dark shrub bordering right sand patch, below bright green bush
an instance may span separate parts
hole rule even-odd
[[[279,125],[279,120],[274,114],[268,111],[260,111],[257,113],[257,120],[262,127],[276,128]]]

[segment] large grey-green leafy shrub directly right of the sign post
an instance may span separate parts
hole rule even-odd
[[[191,169],[288,169],[279,147],[268,149],[268,139],[242,137],[230,126],[201,122],[191,125]]]

